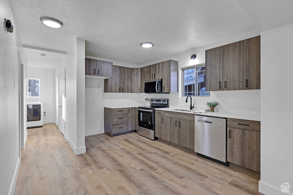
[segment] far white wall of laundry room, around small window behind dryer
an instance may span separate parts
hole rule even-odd
[[[54,122],[55,71],[45,68],[28,67],[28,78],[40,79],[40,97],[27,97],[27,101],[43,101],[43,112],[46,112],[46,116],[43,116],[43,123]]]

